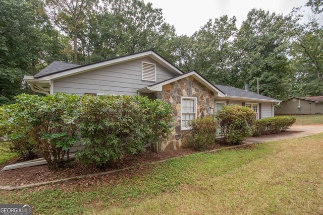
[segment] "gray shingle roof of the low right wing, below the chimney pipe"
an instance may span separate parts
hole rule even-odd
[[[277,99],[273,99],[267,96],[262,96],[260,94],[256,94],[250,91],[245,91],[239,88],[231,87],[231,86],[224,86],[224,85],[214,85],[216,88],[227,94],[227,96],[237,96],[237,97],[245,97],[251,99],[266,99],[266,100],[274,100],[279,101]]]

